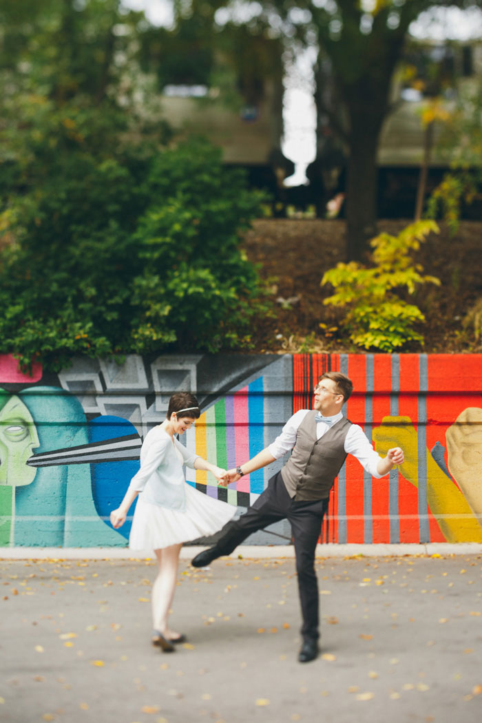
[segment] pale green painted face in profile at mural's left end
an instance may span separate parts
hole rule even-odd
[[[12,396],[0,410],[0,484],[20,487],[33,482],[37,470],[26,462],[39,444],[30,411]]]

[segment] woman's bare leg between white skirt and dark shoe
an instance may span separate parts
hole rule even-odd
[[[181,547],[181,544],[173,544],[170,547],[155,550],[159,572],[152,586],[152,628],[162,633],[165,638],[176,638],[178,635],[169,630],[168,617],[176,591]]]

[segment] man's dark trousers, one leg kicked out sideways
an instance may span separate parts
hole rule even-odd
[[[230,555],[252,532],[287,519],[291,523],[298,573],[303,638],[318,638],[318,581],[314,571],[314,554],[328,500],[296,502],[288,495],[280,472],[272,476],[267,488],[244,515],[228,522],[215,544],[218,556]]]

